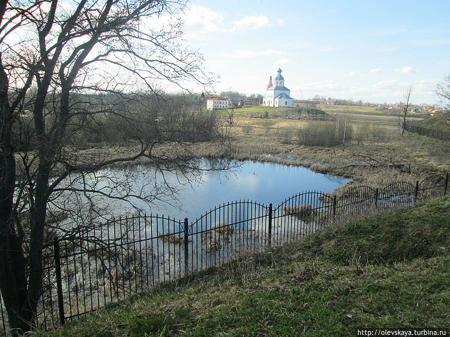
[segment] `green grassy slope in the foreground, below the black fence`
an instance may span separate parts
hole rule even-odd
[[[354,336],[450,326],[450,198],[329,228],[50,336]]]

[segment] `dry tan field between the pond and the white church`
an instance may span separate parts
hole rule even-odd
[[[345,123],[352,127],[353,139],[329,147],[304,146],[298,144],[297,130],[310,121],[247,115],[260,111],[257,108],[261,109],[235,110],[239,112],[234,115],[230,130],[232,140],[227,150],[217,144],[197,143],[192,145],[193,152],[206,157],[301,165],[318,172],[351,177],[357,183],[372,186],[404,180],[406,176],[450,171],[449,142],[408,132],[400,136],[396,116],[335,111],[333,116],[338,118],[341,127]],[[416,122],[420,118],[409,120]],[[365,134],[356,139],[358,130],[362,129],[366,129]]]

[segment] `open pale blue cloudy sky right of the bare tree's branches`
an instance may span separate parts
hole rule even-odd
[[[220,76],[213,91],[264,94],[282,69],[290,96],[438,103],[450,74],[450,1],[191,0],[185,43]]]

